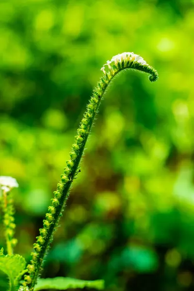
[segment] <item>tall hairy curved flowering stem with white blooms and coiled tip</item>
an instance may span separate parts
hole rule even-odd
[[[107,70],[105,70],[105,66]],[[69,195],[69,188],[73,179],[78,174],[77,170],[83,150],[92,128],[101,98],[114,76],[124,69],[135,69],[146,72],[150,74],[149,80],[152,82],[158,79],[158,73],[153,67],[147,65],[142,57],[130,52],[114,56],[111,61],[107,61],[107,64],[101,68],[104,76],[100,79],[97,87],[93,90],[92,97],[90,98],[86,112],[81,119],[79,129],[75,136],[75,141],[70,152],[70,160],[66,161],[67,167],[65,167],[64,173],[61,175],[61,180],[57,184],[54,198],[51,199],[51,205],[46,214],[46,219],[43,220],[43,228],[40,229],[40,235],[37,237],[37,240],[33,245],[35,251],[32,253],[31,263],[27,266],[29,274],[24,276],[25,282],[23,283],[23,286],[28,286],[31,291],[36,284],[43,259],[52,240],[53,232],[55,231],[62,215],[62,211]]]

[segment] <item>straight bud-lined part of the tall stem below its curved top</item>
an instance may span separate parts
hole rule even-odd
[[[53,231],[57,226],[59,217],[62,215],[63,206],[65,204],[64,201],[68,196],[68,189],[73,178],[75,178],[78,173],[76,170],[78,169],[83,148],[87,140],[93,118],[97,111],[97,106],[99,104],[99,93],[100,92],[96,89],[96,92],[87,105],[87,110],[81,120],[80,127],[77,130],[77,135],[75,136],[72,150],[69,153],[70,159],[66,161],[64,174],[61,175],[61,181],[57,184],[57,190],[54,191],[54,198],[51,199],[51,205],[49,206],[48,213],[46,213],[46,218],[43,220],[43,228],[39,230],[40,235],[36,237],[36,242],[33,244],[34,252],[32,252],[31,262],[27,266],[29,274],[24,275],[24,287],[28,285],[31,288],[31,286],[34,285],[33,281],[36,280],[38,271],[41,268],[44,254],[52,239]]]

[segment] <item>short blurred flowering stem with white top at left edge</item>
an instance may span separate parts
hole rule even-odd
[[[11,189],[15,187],[18,187],[18,183],[15,178],[0,176],[0,188],[3,196],[3,201],[1,201],[1,207],[4,212],[3,224],[8,255],[13,254],[13,247],[17,243],[17,240],[14,238],[14,230],[16,228],[16,225],[14,223],[15,210],[12,194],[10,193]]]

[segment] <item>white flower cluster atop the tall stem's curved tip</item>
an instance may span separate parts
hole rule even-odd
[[[101,68],[101,71],[103,71],[105,73],[105,65],[108,65],[109,68],[111,68],[111,63],[114,62],[115,65],[117,65],[119,62],[122,61],[133,61],[133,62],[137,62],[141,65],[147,65],[146,61],[139,55],[133,53],[133,52],[123,52],[123,53],[119,53],[116,56],[113,56],[113,58],[111,59],[111,61],[107,61],[106,64],[103,65],[103,67]]]

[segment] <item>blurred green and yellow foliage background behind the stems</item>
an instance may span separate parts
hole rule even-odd
[[[194,0],[0,1],[0,175],[19,183],[16,253],[30,259],[100,68],[124,51],[160,79],[127,71],[109,87],[43,276],[194,290]]]

